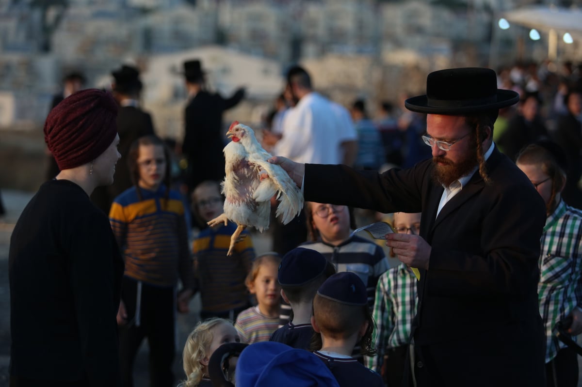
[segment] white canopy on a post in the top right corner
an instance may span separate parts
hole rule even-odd
[[[548,34],[548,58],[556,59],[558,38],[569,33],[575,40],[582,39],[582,10],[556,6],[531,6],[505,12],[503,18],[510,24],[535,28]],[[496,27],[496,26],[495,26]]]

